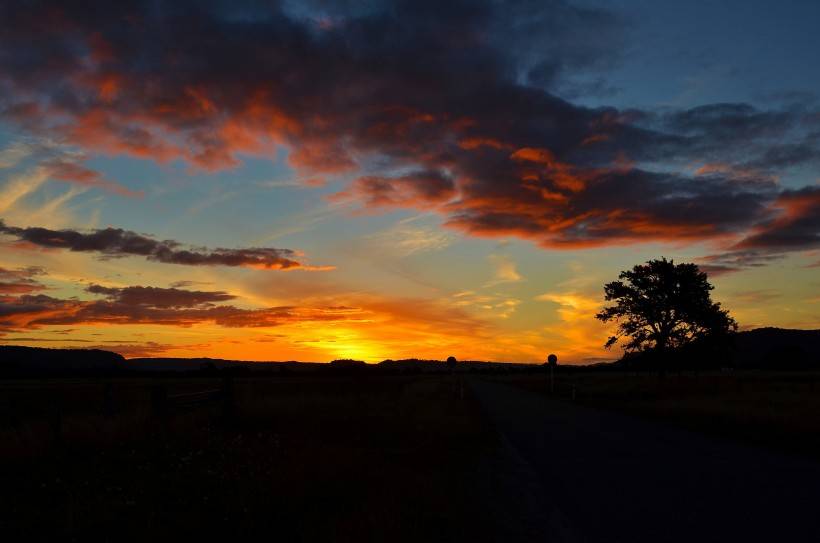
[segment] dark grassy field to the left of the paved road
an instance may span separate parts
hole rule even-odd
[[[108,383],[0,384],[2,533],[420,541],[493,529],[477,473],[497,442],[450,376],[237,379],[231,420],[219,404],[157,420],[156,381]]]

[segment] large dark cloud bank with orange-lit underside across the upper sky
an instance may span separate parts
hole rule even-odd
[[[283,146],[305,178],[354,174],[338,198],[434,210],[462,232],[545,248],[816,246],[816,207],[800,203],[815,189],[784,190],[778,176],[820,163],[820,113],[573,104],[578,89],[606,87],[583,76],[623,50],[624,22],[606,10],[559,0],[92,4],[0,8],[0,117],[94,152],[207,170]],[[146,256],[292,266],[282,250],[248,251]]]

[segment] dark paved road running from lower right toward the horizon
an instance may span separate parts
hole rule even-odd
[[[537,479],[528,492],[546,513],[527,540],[820,542],[820,463],[498,383],[471,387]]]

